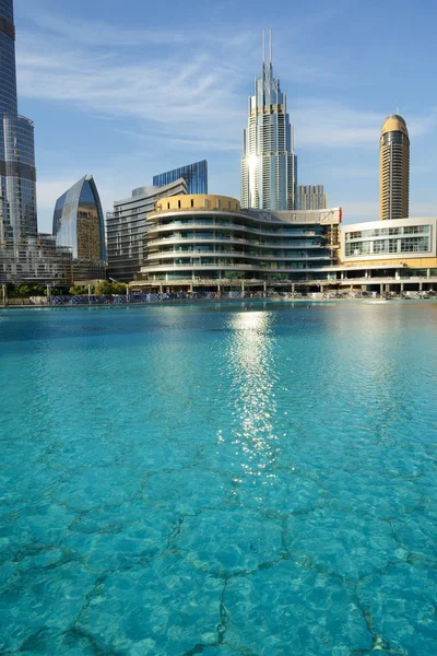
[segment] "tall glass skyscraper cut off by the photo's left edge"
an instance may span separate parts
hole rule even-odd
[[[0,241],[37,236],[34,125],[19,116],[13,1],[0,0]]]

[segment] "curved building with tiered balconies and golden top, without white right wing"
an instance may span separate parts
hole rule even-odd
[[[147,216],[147,281],[281,281],[327,276],[341,210],[241,210],[227,196],[174,196]]]

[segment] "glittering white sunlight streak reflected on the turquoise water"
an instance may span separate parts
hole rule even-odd
[[[272,323],[272,313],[241,312],[229,318],[228,326],[233,436],[243,470],[253,477],[271,469],[277,449]]]

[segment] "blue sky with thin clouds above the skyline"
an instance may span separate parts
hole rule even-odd
[[[122,10],[122,11],[121,11]],[[437,213],[435,0],[15,0],[20,112],[35,121],[39,229],[85,173],[105,211],[152,176],[208,159],[239,197],[261,33],[295,127],[299,184],[344,220],[378,219],[380,127],[411,137],[411,215]]]

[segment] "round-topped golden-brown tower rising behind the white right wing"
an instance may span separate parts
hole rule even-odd
[[[406,219],[410,202],[410,138],[405,120],[391,114],[379,140],[379,218]]]

